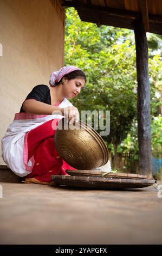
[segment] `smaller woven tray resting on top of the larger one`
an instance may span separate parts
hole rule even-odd
[[[108,173],[101,170],[66,170],[66,173],[72,176],[99,176],[100,178],[124,178],[124,179],[147,179],[146,176],[135,173]]]

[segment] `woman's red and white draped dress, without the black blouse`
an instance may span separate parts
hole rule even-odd
[[[58,107],[73,106],[64,99]],[[56,151],[54,135],[62,115],[16,113],[2,139],[2,157],[18,176],[50,182],[51,175],[72,168]],[[74,168],[72,168],[74,169]]]

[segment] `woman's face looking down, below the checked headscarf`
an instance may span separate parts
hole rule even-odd
[[[74,78],[68,80],[66,77],[63,79],[63,93],[66,99],[73,99],[77,96],[82,88],[85,86],[85,80],[83,78]]]

